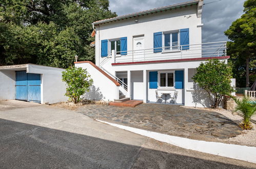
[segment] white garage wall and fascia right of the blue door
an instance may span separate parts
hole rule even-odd
[[[28,65],[27,73],[41,74],[41,103],[50,104],[67,101],[66,83],[62,81],[62,72],[65,69],[41,65]]]

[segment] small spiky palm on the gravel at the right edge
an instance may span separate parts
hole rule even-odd
[[[240,124],[241,128],[245,130],[252,129],[250,120],[256,112],[256,100],[252,100],[249,96],[244,96],[243,99],[239,99],[234,96],[230,97],[232,97],[235,103],[237,103],[235,111],[240,113],[244,118],[243,122]]]

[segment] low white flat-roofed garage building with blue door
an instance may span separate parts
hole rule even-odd
[[[0,100],[38,103],[67,101],[62,81],[65,69],[24,64],[0,67]]]

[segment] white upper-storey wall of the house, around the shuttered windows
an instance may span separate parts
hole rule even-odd
[[[105,58],[101,57],[101,40],[104,39],[127,37],[127,50],[130,51],[133,50],[133,36],[144,35],[144,49],[151,49],[153,48],[153,33],[189,28],[189,44],[201,44],[202,28],[197,27],[198,24],[201,24],[201,17],[197,17],[196,12],[197,6],[194,5],[192,7],[188,6],[187,8],[173,9],[171,11],[163,11],[135,18],[132,17],[95,26],[96,65],[99,66],[100,62]],[[137,23],[135,19],[138,20]],[[190,57],[193,56],[192,53],[195,53],[193,51],[182,52],[184,54],[191,53],[189,55]],[[170,53],[152,53],[152,55],[161,55],[161,58],[164,59],[164,56],[169,56]],[[128,58],[129,56],[122,56],[121,58],[124,57]]]

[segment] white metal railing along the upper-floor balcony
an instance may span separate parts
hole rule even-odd
[[[137,62],[137,61],[151,61],[151,60],[167,60],[180,58],[198,58],[198,57],[218,57],[226,56],[226,41],[218,41],[203,44],[180,45],[175,47],[151,48],[143,50],[122,51],[127,53],[121,55],[121,52],[111,52],[105,58],[101,65],[104,65],[108,58],[112,58],[113,63],[122,62]],[[189,49],[188,49],[189,48]],[[182,50],[183,49],[183,50]],[[185,50],[184,50],[185,49]],[[158,52],[155,52],[158,51]]]

